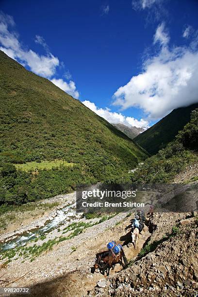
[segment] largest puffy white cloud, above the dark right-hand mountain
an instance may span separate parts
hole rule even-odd
[[[136,106],[149,119],[159,119],[175,108],[198,102],[198,47],[195,42],[191,45],[162,47],[145,61],[140,74],[117,89],[114,105],[121,110]]]

